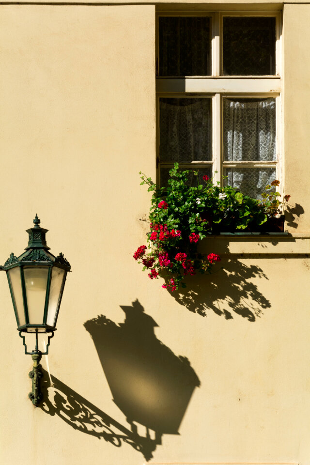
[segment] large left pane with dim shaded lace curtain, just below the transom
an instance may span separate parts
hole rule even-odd
[[[211,160],[211,99],[159,99],[159,158],[168,162]]]

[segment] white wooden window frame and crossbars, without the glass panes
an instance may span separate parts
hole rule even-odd
[[[157,77],[156,78],[156,113],[157,113],[157,179],[160,183],[160,166],[171,166],[171,163],[159,163],[159,98],[160,97],[211,97],[212,98],[212,161],[197,161],[187,164],[182,163],[182,167],[206,168],[212,167],[215,182],[222,184],[223,169],[235,167],[275,167],[276,178],[280,181],[281,191],[283,191],[283,163],[281,153],[282,137],[282,14],[281,12],[158,12],[156,14],[156,66],[157,74],[159,70],[158,60],[158,24],[160,16],[208,16],[211,18],[211,76],[189,76],[184,78]],[[250,16],[250,17],[275,17],[276,18],[276,75],[274,76],[223,76],[222,70],[222,28],[223,17],[225,16]],[[222,115],[223,98],[275,98],[276,99],[276,161],[272,162],[228,162],[223,160],[223,135],[222,135]]]

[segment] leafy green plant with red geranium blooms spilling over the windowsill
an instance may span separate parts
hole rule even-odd
[[[149,251],[140,246],[134,258],[143,263],[143,270],[149,270],[150,279],[164,277],[166,283],[162,287],[171,291],[180,285],[185,287],[183,280],[187,275],[210,272],[213,264],[220,261],[215,253],[202,256],[197,252],[200,240],[219,231],[253,230],[267,218],[278,216],[283,205],[273,187],[279,181],[266,186],[262,199],[257,200],[231,186],[213,184],[206,175],[200,184],[197,171],[197,186],[189,186],[189,171],[180,171],[178,163],[170,171],[167,187],[158,188],[151,178],[140,174],[140,184],[146,184],[148,191],[153,192],[147,234]]]

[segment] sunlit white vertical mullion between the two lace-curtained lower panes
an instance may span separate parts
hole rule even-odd
[[[214,182],[221,181],[221,96],[216,93],[212,98],[212,150]],[[216,172],[217,171],[217,172]]]

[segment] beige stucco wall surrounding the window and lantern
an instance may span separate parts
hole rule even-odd
[[[191,303],[161,289],[132,258],[145,242],[140,218],[149,207],[138,172],[155,176],[155,5],[0,6],[0,258],[22,252],[38,213],[51,251],[72,265],[42,364],[76,415],[68,404],[35,409],[27,399],[31,357],[23,354],[3,273],[1,464],[145,462],[119,437],[130,426],[84,327],[100,314],[122,323],[120,306],[138,299],[158,340],[186,356],[201,383],[179,435],[164,434],[151,463],[310,465],[309,22],[310,5],[284,6],[285,188],[305,210],[295,230],[304,236],[256,242],[252,250],[248,242],[213,243],[224,269],[192,281]],[[152,334],[147,324],[140,329],[131,339],[140,344],[137,366],[139,354],[147,365],[150,352],[141,333]],[[111,376],[121,386],[128,351],[117,338],[110,342]],[[160,389],[151,381],[133,374],[124,387],[147,404]],[[156,411],[167,408],[167,390]],[[139,433],[146,434],[141,425]]]

